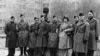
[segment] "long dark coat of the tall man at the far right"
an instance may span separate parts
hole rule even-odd
[[[99,37],[98,22],[96,19],[88,21],[90,24],[90,35],[88,40],[88,49],[97,50],[97,39]]]

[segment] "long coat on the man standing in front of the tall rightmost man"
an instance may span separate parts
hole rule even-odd
[[[77,23],[74,33],[73,50],[75,52],[87,53],[89,37],[89,23]]]

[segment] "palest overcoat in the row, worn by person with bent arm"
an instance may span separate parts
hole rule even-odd
[[[72,41],[71,37],[69,36],[71,31],[73,30],[71,23],[62,23],[60,25],[60,31],[59,31],[59,49],[70,49],[72,48]]]

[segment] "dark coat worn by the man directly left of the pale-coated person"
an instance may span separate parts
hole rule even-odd
[[[49,38],[48,38],[48,47],[57,48],[58,45],[58,24],[49,25]]]

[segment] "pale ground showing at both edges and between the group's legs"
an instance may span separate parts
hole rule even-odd
[[[97,47],[98,50],[95,51],[94,56],[100,56],[100,41],[98,41]],[[8,50],[7,48],[5,48],[5,38],[0,38],[0,56],[7,56],[7,54],[8,54]],[[16,49],[15,56],[19,56],[19,54],[20,54],[19,50]],[[48,52],[47,52],[47,56],[49,56]]]

